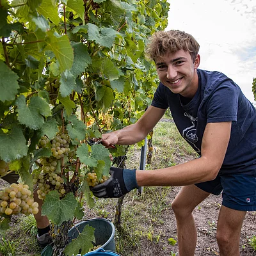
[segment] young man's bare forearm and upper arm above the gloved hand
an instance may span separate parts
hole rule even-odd
[[[215,179],[227,152],[231,124],[231,122],[207,124],[200,158],[159,170],[137,170],[138,185],[185,186]]]

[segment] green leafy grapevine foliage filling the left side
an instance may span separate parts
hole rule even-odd
[[[54,166],[65,194],[50,192],[43,206],[56,225],[72,220],[77,198],[92,205],[87,172],[108,174],[108,150],[86,139],[133,124],[150,104],[157,76],[144,50],[166,27],[168,7],[166,0],[0,0],[0,159],[32,188],[42,161],[55,161],[54,136],[68,134],[70,153]]]

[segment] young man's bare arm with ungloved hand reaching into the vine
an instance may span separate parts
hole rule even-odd
[[[143,140],[161,119],[165,111],[166,109],[150,106],[136,124],[129,125],[118,131],[102,134],[102,144],[106,147],[115,144],[132,145]]]

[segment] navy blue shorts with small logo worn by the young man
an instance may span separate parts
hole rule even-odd
[[[256,211],[256,174],[218,174],[216,179],[195,184],[213,195],[222,192],[222,204],[238,211]]]

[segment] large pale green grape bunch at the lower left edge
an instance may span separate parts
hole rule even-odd
[[[0,192],[0,216],[38,213],[38,203],[26,184],[13,183]]]

